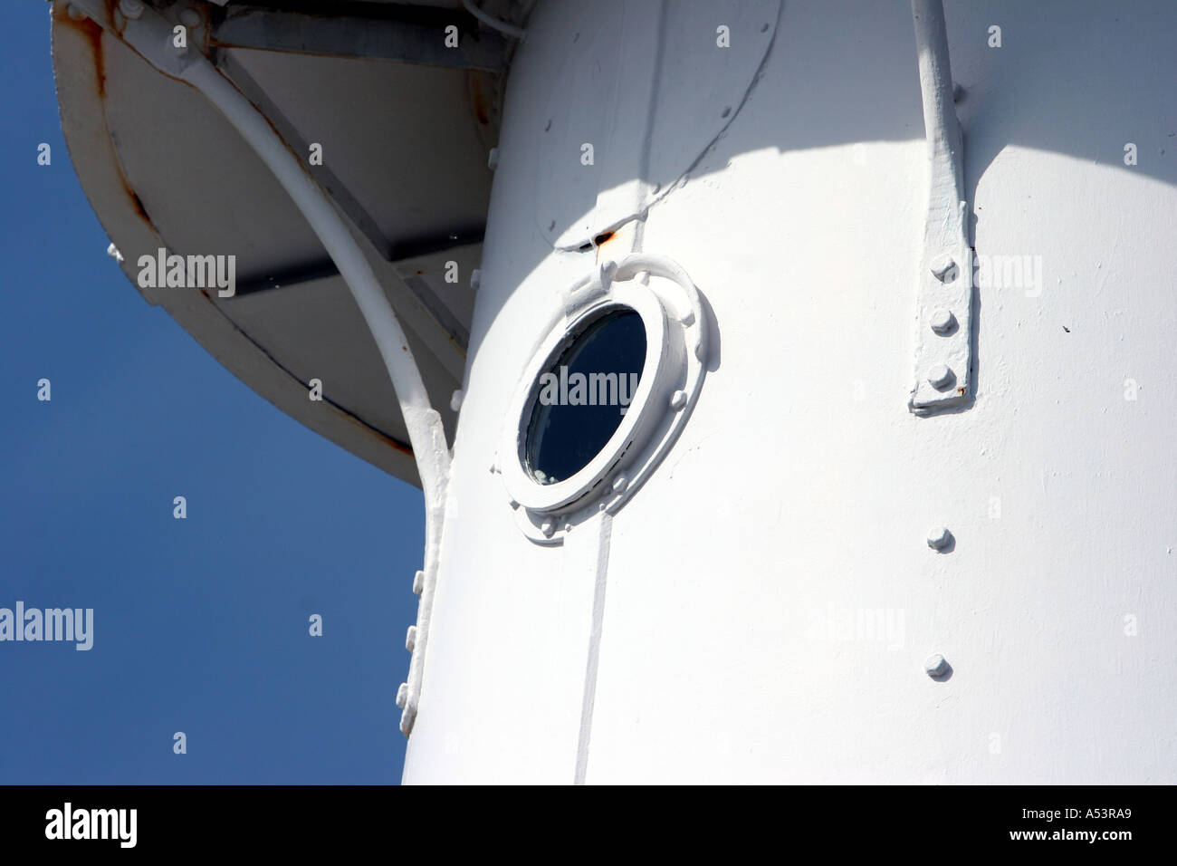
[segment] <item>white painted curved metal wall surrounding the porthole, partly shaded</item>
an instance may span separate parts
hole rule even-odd
[[[949,2],[972,242],[1031,276],[978,286],[975,402],[932,417],[910,4],[777,7],[763,68],[749,4],[527,22],[405,780],[1177,781],[1177,7]],[[643,231],[553,249],[626,194]],[[638,245],[710,303],[711,370],[632,501],[541,547],[490,471],[505,406],[561,292]]]

